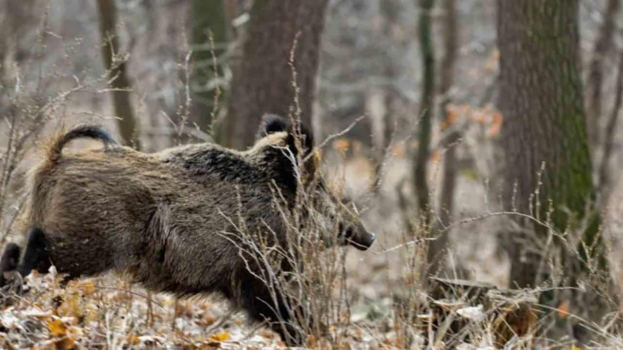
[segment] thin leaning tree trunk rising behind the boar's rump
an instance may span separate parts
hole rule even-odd
[[[116,57],[119,50],[119,42],[117,39],[117,9],[115,9],[115,1],[98,0],[97,6],[100,10],[100,33],[103,42],[102,57],[104,60],[104,68],[110,70],[111,77],[117,77],[110,85],[117,89],[129,88],[130,80],[128,80],[128,75],[126,74],[126,62]],[[132,110],[130,93],[126,91],[113,91],[112,95],[115,105],[115,114],[119,118],[117,120],[117,125],[123,143],[140,149],[140,140],[135,135],[137,123],[134,111]]]

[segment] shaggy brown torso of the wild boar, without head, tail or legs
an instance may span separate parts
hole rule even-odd
[[[247,273],[233,223],[283,227],[271,209],[280,169],[270,169],[282,140],[270,135],[244,153],[213,144],[66,152],[36,172],[32,226],[45,232],[59,272],[72,277],[114,269],[154,290],[233,296],[230,281]]]

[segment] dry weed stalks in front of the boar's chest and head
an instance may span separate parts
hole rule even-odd
[[[237,218],[228,218],[237,232],[221,234],[239,247],[247,270],[268,287],[272,299],[269,307],[280,322],[293,320],[284,327],[294,327],[312,335],[312,339],[337,344],[345,338],[350,323],[346,248],[327,249],[339,245],[338,227],[326,227],[322,209],[313,203],[310,194],[301,191],[299,198],[290,210],[280,192],[273,192],[273,206],[286,223],[285,237],[268,225],[264,235],[251,234],[244,227],[240,212]],[[286,301],[287,310],[279,310],[282,300]]]

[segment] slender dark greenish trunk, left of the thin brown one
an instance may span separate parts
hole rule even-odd
[[[414,188],[418,203],[419,214],[429,222],[429,187],[427,183],[427,164],[430,155],[430,125],[433,118],[435,103],[435,55],[432,43],[432,26],[430,24],[430,11],[434,0],[422,0],[419,2],[419,42],[422,55],[422,95],[420,97],[419,123],[417,125],[417,152],[413,160]]]

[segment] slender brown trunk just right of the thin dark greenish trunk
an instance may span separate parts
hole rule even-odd
[[[439,72],[439,86],[437,90],[442,96],[439,103],[440,119],[445,121],[446,108],[450,103],[448,93],[454,80],[454,65],[457,60],[457,41],[459,39],[459,16],[457,15],[456,1],[444,0],[444,58],[442,59]],[[444,152],[444,166],[442,173],[442,184],[439,192],[439,220],[435,220],[432,232],[437,235],[437,239],[430,242],[428,251],[429,272],[434,274],[439,272],[440,265],[444,257],[444,249],[448,244],[449,231],[441,230],[442,225],[448,225],[452,219],[454,210],[454,189],[456,187],[456,143],[460,138],[459,131],[450,131],[447,136],[448,148]]]

